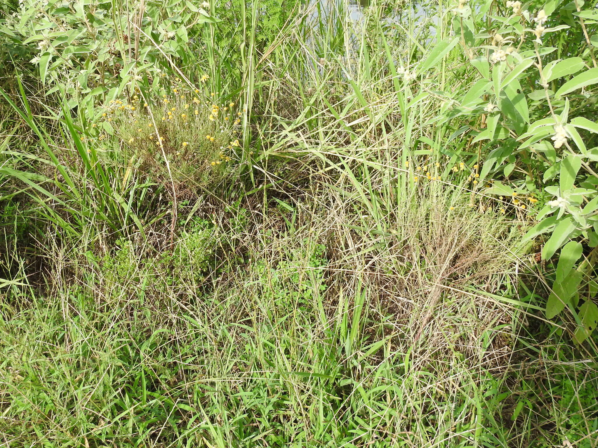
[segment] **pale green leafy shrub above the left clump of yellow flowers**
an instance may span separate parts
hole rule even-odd
[[[102,0],[20,0],[0,33],[35,49],[41,81],[66,93],[69,106],[90,106],[102,95],[151,89],[170,61],[188,59],[196,25],[215,23],[209,4]],[[101,97],[100,97],[101,98]]]

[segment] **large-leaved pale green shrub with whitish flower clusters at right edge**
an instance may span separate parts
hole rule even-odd
[[[535,218],[524,242],[543,235],[541,258],[558,254],[546,315],[568,307],[579,343],[598,321],[598,67],[597,39],[588,34],[598,13],[582,5],[550,0],[532,11],[509,0],[490,15],[460,0],[453,26],[477,76],[444,116],[468,118],[457,132],[479,145],[480,183],[472,189]]]

